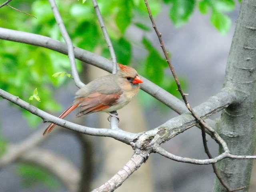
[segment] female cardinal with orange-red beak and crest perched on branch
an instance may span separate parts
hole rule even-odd
[[[142,79],[134,68],[118,64],[120,70],[116,74],[102,76],[88,83],[76,92],[73,105],[64,111],[59,118],[63,119],[72,110],[79,107],[76,117],[88,115],[94,112],[116,111],[127,105],[140,89]],[[115,116],[115,114],[110,114]],[[56,124],[50,124],[44,134],[50,132]]]

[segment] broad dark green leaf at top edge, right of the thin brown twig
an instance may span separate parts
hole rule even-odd
[[[174,0],[170,10],[170,18],[176,27],[180,27],[188,22],[193,13],[195,0]]]

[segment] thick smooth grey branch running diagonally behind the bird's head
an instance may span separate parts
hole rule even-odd
[[[62,54],[68,54],[68,49],[64,42],[60,42],[58,40],[54,40],[52,38],[42,35],[0,28],[0,39],[41,46],[60,52]],[[88,52],[78,47],[74,47],[74,54],[75,58],[78,60],[81,60],[88,64],[92,64],[108,72],[112,72],[112,62],[102,56],[96,55],[92,52]],[[188,112],[188,109],[181,100],[179,100],[166,90],[162,89],[161,87],[157,86],[156,84],[150,82],[146,78],[142,77],[142,80],[144,82],[141,85],[142,90],[152,95],[154,98],[156,98],[166,106],[170,107],[178,114]],[[212,124],[214,123],[212,122]]]

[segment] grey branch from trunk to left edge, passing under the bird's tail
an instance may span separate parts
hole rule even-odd
[[[89,128],[89,127],[80,126],[80,125],[68,122],[66,120],[52,116],[1,89],[0,89],[0,96],[30,111],[32,114],[39,116],[45,122],[52,122],[59,126],[62,126],[71,130],[75,130],[78,132],[82,132],[84,134],[89,134],[94,136],[109,136],[109,137],[115,138],[116,140],[120,140],[126,144],[130,144],[130,142],[132,142],[138,136],[138,134],[132,134],[122,130]],[[223,90],[216,96],[212,96],[208,101],[196,107],[194,110],[203,120],[205,120],[206,118],[209,118],[211,115],[216,114],[217,112],[223,110],[231,103],[237,102],[237,99],[239,99],[238,92],[232,91],[230,89]],[[162,144],[170,140],[172,137],[184,132],[185,130],[187,130],[188,128],[191,128],[196,124],[197,122],[194,119],[194,117],[189,112],[187,112],[176,118],[168,120],[166,123],[162,124],[158,128],[146,132],[146,134],[152,135],[152,133],[155,133],[155,131],[166,130],[166,133],[168,132],[168,134],[162,135],[161,142],[158,142],[158,144]]]

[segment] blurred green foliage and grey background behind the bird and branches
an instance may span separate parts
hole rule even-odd
[[[178,3],[182,2],[182,3]],[[1,2],[3,3],[3,2]],[[144,1],[99,1],[112,38],[117,60],[179,97],[170,69],[160,50],[158,38]],[[46,0],[13,1],[0,8],[0,27],[21,30],[62,40]],[[66,28],[75,46],[110,58],[92,2],[57,1]],[[239,2],[232,0],[149,1],[156,25],[172,64],[192,107],[205,102],[222,89]],[[0,40],[0,88],[29,102],[35,88],[41,102],[31,104],[58,116],[72,104],[78,90],[70,74],[68,57],[45,48]],[[108,74],[77,60],[80,78],[88,83]],[[180,97],[179,97],[180,98]],[[95,128],[109,128],[108,114],[91,114],[71,122]],[[156,128],[177,116],[152,96],[140,90],[136,99],[118,111],[119,127],[138,133]],[[216,114],[212,119],[218,118]],[[130,146],[112,138],[84,136],[55,128],[42,137],[48,123],[0,99],[0,191],[76,192],[91,191],[109,180],[130,159]],[[208,138],[213,156],[218,145]],[[190,128],[163,146],[182,157],[206,159],[201,131]],[[252,176],[252,178],[255,178]],[[174,162],[151,154],[116,191],[119,192],[211,192],[214,173],[211,165]],[[250,191],[256,191],[252,180]]]

